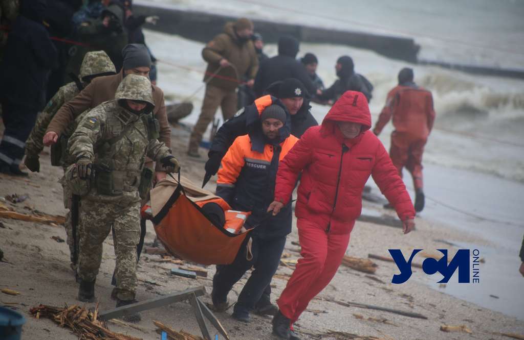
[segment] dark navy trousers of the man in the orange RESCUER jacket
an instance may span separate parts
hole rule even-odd
[[[257,304],[267,304],[271,293],[271,279],[277,272],[282,251],[286,245],[286,236],[274,239],[260,239],[252,236],[252,260],[246,259],[246,247],[242,246],[231,265],[217,265],[213,277],[212,297],[215,302],[224,302],[233,285],[254,267],[235,304],[235,313],[246,314]]]

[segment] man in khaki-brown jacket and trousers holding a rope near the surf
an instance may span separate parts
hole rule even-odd
[[[198,147],[202,135],[220,106],[224,120],[233,117],[236,111],[236,88],[244,75],[247,85],[252,87],[258,71],[258,57],[250,39],[253,22],[246,18],[228,22],[224,32],[217,35],[202,50],[202,58],[208,62],[202,112],[189,140],[188,155],[199,157]]]

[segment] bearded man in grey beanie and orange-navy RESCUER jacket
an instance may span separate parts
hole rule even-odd
[[[246,109],[258,111],[259,128],[238,137],[227,151],[218,173],[216,195],[234,210],[251,212],[244,226],[256,226],[250,232],[252,258],[248,259],[246,247],[241,247],[231,265],[217,266],[211,298],[215,308],[223,310],[233,285],[254,267],[233,310],[233,318],[249,322],[249,312],[261,304],[276,312],[266,289],[280,263],[286,235],[291,232],[291,202],[276,216],[266,210],[274,197],[279,162],[298,139],[290,135],[290,115],[280,100],[268,95]]]

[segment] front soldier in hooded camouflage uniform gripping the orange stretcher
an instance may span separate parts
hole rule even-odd
[[[102,244],[113,226],[116,305],[135,302],[139,191],[145,192],[140,183],[150,183],[141,180],[145,169],[149,170],[144,167],[146,155],[168,172],[180,168],[168,147],[157,140],[158,123],[150,114],[153,103],[149,79],[129,74],[118,86],[115,99],[89,111],[69,140],[69,154],[77,160],[73,177],[86,179],[89,187],[80,206],[80,301],[94,301]],[[127,320],[139,318],[135,314]]]

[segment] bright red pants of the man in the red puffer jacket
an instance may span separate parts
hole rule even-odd
[[[342,263],[350,234],[326,233],[318,225],[299,219],[298,235],[302,258],[278,299],[280,312],[296,322],[316,294],[328,286]]]

